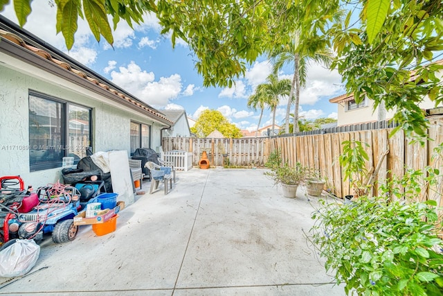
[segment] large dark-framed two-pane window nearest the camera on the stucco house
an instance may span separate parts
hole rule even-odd
[[[91,109],[29,94],[30,171],[60,167],[65,156],[77,163],[90,145]]]

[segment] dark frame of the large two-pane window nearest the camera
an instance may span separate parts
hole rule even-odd
[[[61,127],[60,127],[60,148],[62,150],[62,158],[66,157],[69,155],[69,107],[70,106],[76,106],[76,107],[81,107],[84,108],[86,110],[89,110],[89,131],[88,131],[88,137],[89,137],[89,147],[92,147],[92,136],[93,136],[93,122],[92,122],[92,112],[93,109],[91,107],[87,107],[78,103],[72,103],[70,101],[66,101],[63,100],[61,98],[56,98],[54,96],[50,96],[48,94],[42,94],[40,92],[35,92],[33,90],[29,90],[28,92],[28,110],[30,110],[30,96],[35,96],[39,99],[42,100],[46,100],[46,101],[51,101],[51,102],[55,102],[58,104],[61,104],[62,106],[62,112],[60,114],[60,123],[61,123]],[[28,119],[29,119],[29,115],[28,115]],[[30,121],[28,121],[28,142],[30,144],[30,149],[29,151],[33,148],[31,146],[30,143],[30,137],[31,137],[31,131],[30,131]],[[33,145],[35,146],[35,145]],[[84,147],[84,149],[86,150],[87,147]],[[57,161],[53,161],[53,162],[46,162],[46,163],[37,163],[37,164],[31,164],[31,157],[30,157],[30,152],[29,152],[29,170],[30,172],[35,172],[35,171],[44,171],[44,170],[48,170],[51,168],[61,168],[62,167],[62,161],[63,159],[57,160]],[[78,163],[78,159],[74,162],[74,164]]]

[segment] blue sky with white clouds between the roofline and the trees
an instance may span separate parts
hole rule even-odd
[[[203,87],[203,79],[194,67],[194,57],[188,46],[178,42],[172,49],[170,38],[160,35],[156,18],[144,17],[141,26],[132,30],[120,21],[114,31],[114,49],[105,40],[96,42],[87,23],[79,19],[75,44],[66,50],[61,34],[55,32],[55,7],[48,1],[33,1],[24,28],[42,40],[71,55],[85,66],[116,83],[146,103],[163,109],[185,109],[186,114],[197,119],[205,109],[219,110],[241,129],[255,130],[260,111],[248,110],[246,102],[257,85],[263,83],[271,72],[265,58],[254,62],[244,78],[235,87]],[[13,6],[9,5],[1,15],[17,23]],[[281,78],[292,78],[290,69],[283,69]],[[336,118],[336,104],[329,98],[344,94],[341,77],[318,64],[311,64],[307,86],[300,92],[300,116],[305,119],[318,117]],[[282,100],[276,112],[276,123],[281,124],[286,114],[287,101]],[[272,123],[269,110],[265,110],[261,127]]]

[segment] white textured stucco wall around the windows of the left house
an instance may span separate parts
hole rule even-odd
[[[62,182],[62,168],[30,172],[28,92],[33,90],[62,101],[92,109],[93,152],[127,150],[129,156],[130,121],[152,126],[152,148],[160,145],[159,126],[145,116],[121,110],[96,98],[75,92],[59,83],[28,76],[0,64],[0,176],[21,175],[25,184],[44,186]],[[83,92],[84,93],[84,92]],[[154,137],[157,134],[157,137]]]

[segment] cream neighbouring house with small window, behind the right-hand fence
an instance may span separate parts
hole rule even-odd
[[[443,60],[438,60],[436,63],[443,64]],[[443,76],[443,71],[439,73],[440,78]],[[343,94],[331,98],[329,103],[337,104],[337,126],[352,125],[357,123],[370,123],[379,121],[383,116],[379,116],[380,107],[374,110],[374,101],[365,98],[361,103],[357,104],[354,100],[353,94]],[[437,107],[435,102],[432,102],[427,96],[419,103],[419,107],[422,110],[431,110]],[[395,110],[386,112],[385,120],[392,119],[395,114]]]

